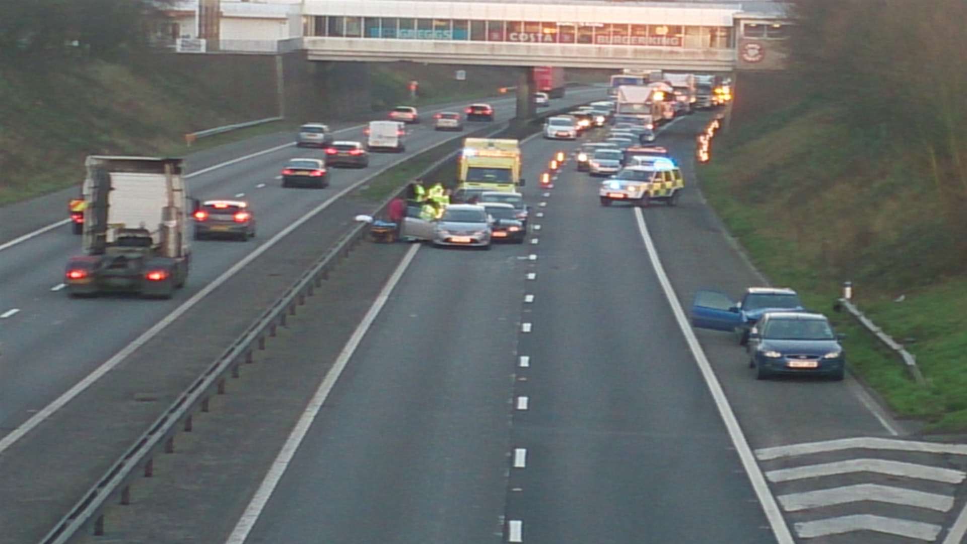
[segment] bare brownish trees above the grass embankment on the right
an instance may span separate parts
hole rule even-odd
[[[793,0],[790,67],[844,121],[923,149],[967,196],[967,2]]]

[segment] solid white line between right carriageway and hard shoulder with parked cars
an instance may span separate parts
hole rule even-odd
[[[795,541],[793,540],[792,533],[786,526],[782,512],[779,511],[776,498],[773,497],[772,492],[769,490],[769,484],[766,483],[762,469],[755,462],[752,449],[749,447],[746,436],[742,432],[742,426],[739,425],[739,420],[736,418],[735,412],[732,411],[732,407],[725,397],[725,392],[722,390],[722,386],[718,382],[715,372],[712,370],[712,365],[705,356],[705,351],[702,350],[702,346],[698,343],[694,331],[689,326],[689,319],[685,316],[685,311],[682,310],[682,303],[679,302],[678,296],[675,294],[675,289],[671,287],[671,282],[668,280],[667,274],[665,274],[658,251],[655,249],[655,243],[652,241],[651,234],[648,233],[648,226],[645,225],[645,217],[641,213],[641,208],[634,208],[634,217],[638,223],[638,231],[641,233],[641,239],[645,243],[645,250],[648,252],[648,257],[652,262],[652,268],[655,269],[655,275],[659,279],[661,290],[664,291],[668,305],[671,306],[672,313],[675,315],[675,320],[678,322],[678,326],[682,330],[686,342],[689,344],[691,355],[702,373],[702,378],[705,378],[705,383],[709,388],[709,392],[712,394],[712,399],[716,403],[716,408],[718,408],[718,415],[722,418],[722,423],[728,431],[729,438],[732,439],[732,444],[735,446],[736,453],[742,461],[743,468],[746,469],[748,481],[752,485],[752,490],[755,492],[756,498],[759,499],[759,503],[762,505],[762,511],[766,519],[769,520],[769,525],[773,529],[776,540],[778,544],[794,544]]]

